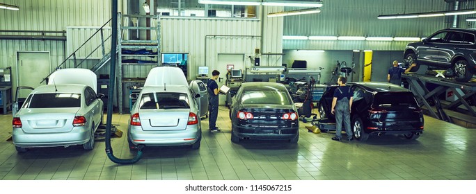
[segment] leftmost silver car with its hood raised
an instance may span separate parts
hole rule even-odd
[[[88,69],[60,69],[29,94],[13,116],[13,143],[27,148],[83,145],[94,148],[102,123],[103,94],[96,94],[96,74]]]

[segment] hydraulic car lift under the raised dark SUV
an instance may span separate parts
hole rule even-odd
[[[466,107],[471,116],[476,116],[475,110],[468,103],[468,99],[471,99],[471,97],[476,94],[476,82],[457,82],[453,79],[413,73],[402,74],[402,78],[406,79],[410,86],[410,90],[418,98],[419,103],[423,103],[429,114],[434,118],[453,123],[452,118],[447,116],[444,109],[454,110],[460,105]],[[437,87],[429,91],[425,85],[426,83],[432,83],[437,85]],[[456,95],[458,98],[449,105],[443,106],[438,95],[445,93],[447,89],[450,89],[453,92],[453,95]],[[461,96],[461,94],[464,95]],[[436,112],[431,108],[429,100],[434,101]]]

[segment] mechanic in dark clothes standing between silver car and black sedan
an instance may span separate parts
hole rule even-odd
[[[219,106],[219,92],[220,89],[218,84],[216,84],[216,79],[220,76],[220,71],[212,71],[212,78],[207,82],[208,87],[208,110],[210,112],[209,116],[209,129],[210,132],[221,132],[218,127],[216,127],[216,118],[218,117],[218,106]]]

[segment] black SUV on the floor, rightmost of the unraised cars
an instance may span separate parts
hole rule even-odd
[[[418,139],[422,134],[422,109],[408,89],[388,82],[349,82],[346,85],[354,89],[351,127],[356,139],[365,141],[370,134],[403,134],[406,139]],[[336,88],[328,87],[319,100],[321,125],[335,125],[331,107]],[[326,131],[326,127],[319,128]]]

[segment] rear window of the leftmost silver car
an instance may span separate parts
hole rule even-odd
[[[24,103],[25,108],[81,107],[81,94],[31,94]]]

